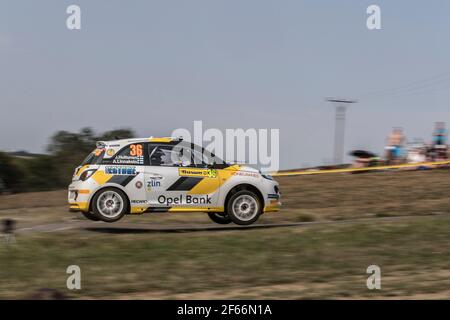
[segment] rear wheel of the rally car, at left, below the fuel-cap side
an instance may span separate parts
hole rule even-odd
[[[96,218],[104,222],[116,222],[129,210],[128,198],[117,188],[105,188],[92,199],[92,211]]]

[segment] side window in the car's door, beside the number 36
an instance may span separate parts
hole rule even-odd
[[[189,167],[191,158],[186,149],[176,146],[150,146],[150,165],[164,167]]]

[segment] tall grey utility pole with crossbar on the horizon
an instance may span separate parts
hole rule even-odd
[[[345,146],[345,116],[347,106],[358,102],[357,100],[326,98],[336,107],[336,118],[334,125],[334,164],[342,164],[344,162],[344,146]]]

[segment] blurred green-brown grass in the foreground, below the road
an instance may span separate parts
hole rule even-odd
[[[71,298],[378,298],[450,285],[450,218],[180,234],[66,232],[0,246],[0,297],[54,288]],[[82,290],[65,287],[67,266]],[[382,290],[366,268],[382,269]]]

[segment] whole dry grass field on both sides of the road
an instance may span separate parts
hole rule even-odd
[[[24,298],[40,288],[68,298],[449,298],[449,175],[277,179],[283,209],[260,223],[319,222],[300,227],[19,233],[16,244],[0,245],[0,298]],[[0,218],[17,219],[19,227],[70,223],[74,215],[67,213],[65,196],[65,191],[2,196]],[[326,221],[331,223],[321,223]],[[211,224],[200,213],[124,222]],[[82,270],[80,291],[66,288],[65,271],[72,264]],[[381,267],[381,290],[366,287],[372,264]]]

